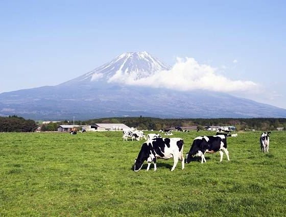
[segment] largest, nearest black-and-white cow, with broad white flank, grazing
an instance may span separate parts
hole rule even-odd
[[[174,158],[174,165],[171,171],[175,170],[178,160],[182,162],[182,170],[184,169],[183,157],[184,140],[181,138],[155,138],[147,140],[142,144],[141,150],[137,159],[134,162],[134,171],[137,172],[141,169],[144,161],[148,162],[147,171],[153,162],[154,171],[157,170],[156,159],[170,159]]]

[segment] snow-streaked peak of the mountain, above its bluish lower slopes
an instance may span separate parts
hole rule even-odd
[[[86,85],[94,81],[116,82],[118,79],[138,80],[171,67],[147,52],[128,52],[88,73],[60,85]]]

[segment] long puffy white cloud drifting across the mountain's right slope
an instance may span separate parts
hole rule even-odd
[[[169,88],[176,90],[204,89],[220,92],[248,91],[258,88],[252,81],[231,80],[216,73],[217,69],[199,64],[194,58],[177,58],[171,70],[163,70],[154,75],[133,80],[126,74],[116,73],[109,82],[129,85]]]

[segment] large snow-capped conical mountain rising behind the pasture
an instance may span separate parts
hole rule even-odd
[[[285,117],[286,110],[209,90],[177,91],[125,84],[168,71],[147,52],[115,57],[56,86],[0,94],[0,115],[32,119],[91,119],[116,116],[161,118]]]

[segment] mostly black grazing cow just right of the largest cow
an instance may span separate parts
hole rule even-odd
[[[225,135],[216,136],[199,136],[194,139],[192,147],[190,147],[189,152],[186,155],[186,162],[189,163],[194,156],[200,156],[203,162],[206,162],[204,157],[205,153],[216,153],[217,151],[221,154],[221,160],[223,160],[223,151],[229,160],[227,143]]]

